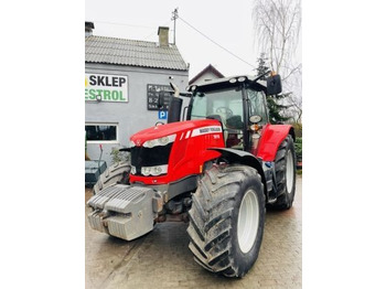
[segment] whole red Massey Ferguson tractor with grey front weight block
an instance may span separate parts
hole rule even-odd
[[[280,76],[173,84],[168,124],[130,137],[131,163],[107,169],[95,185],[89,225],[131,240],[164,221],[189,221],[189,248],[205,269],[243,277],[262,240],[266,206],[292,206],[294,131],[270,125],[266,95]],[[162,101],[162,100],[160,100]],[[184,121],[180,121],[183,111]]]

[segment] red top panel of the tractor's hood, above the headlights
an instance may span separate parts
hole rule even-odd
[[[132,135],[130,140],[133,141],[137,147],[140,147],[147,140],[158,139],[173,133],[206,126],[218,126],[218,120],[196,119],[151,127]]]

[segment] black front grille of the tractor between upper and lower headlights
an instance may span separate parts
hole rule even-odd
[[[153,148],[131,148],[131,165],[136,167],[135,175],[142,175],[142,167],[156,167],[169,163],[169,156],[173,143],[157,146]]]

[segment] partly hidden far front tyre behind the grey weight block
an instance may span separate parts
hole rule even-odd
[[[94,194],[116,183],[129,184],[130,169],[131,167],[128,161],[117,162],[108,167],[94,185]]]

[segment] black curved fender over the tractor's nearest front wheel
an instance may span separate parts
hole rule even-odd
[[[260,174],[261,181],[264,183],[264,193],[267,195],[267,182],[262,170],[262,165],[261,162],[258,159],[256,159],[254,154],[243,150],[234,150],[226,148],[210,148],[208,150],[218,151],[222,154],[221,157],[227,160],[228,163],[239,163],[256,169],[257,172]]]

